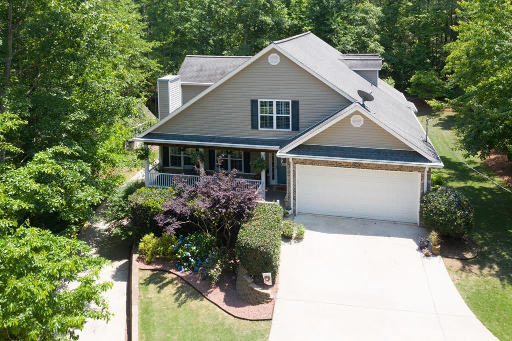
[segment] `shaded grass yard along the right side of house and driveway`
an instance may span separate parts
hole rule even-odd
[[[512,193],[464,165],[478,170],[506,187],[479,158],[465,159],[457,149],[452,130],[454,113],[433,113],[419,106],[418,118],[429,115],[429,137],[441,155],[440,170],[447,185],[461,191],[475,208],[475,229],[470,236],[480,253],[476,259],[444,259],[450,276],[478,319],[501,340],[512,340]],[[441,251],[442,253],[442,251]]]

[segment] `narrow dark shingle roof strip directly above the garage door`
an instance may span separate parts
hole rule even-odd
[[[391,162],[432,163],[423,155],[413,150],[375,149],[356,147],[333,147],[300,145],[287,154],[299,156],[338,157],[349,160],[378,160]]]

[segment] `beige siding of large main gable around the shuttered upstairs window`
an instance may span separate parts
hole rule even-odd
[[[301,131],[350,103],[284,55],[270,65],[270,53],[278,52],[255,60],[154,132],[285,139],[297,131],[251,129],[251,99],[300,101]]]

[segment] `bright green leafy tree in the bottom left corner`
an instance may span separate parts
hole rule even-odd
[[[85,243],[23,224],[0,238],[0,339],[77,339],[86,319],[108,320],[98,282],[105,260]],[[94,304],[94,308],[92,306]]]

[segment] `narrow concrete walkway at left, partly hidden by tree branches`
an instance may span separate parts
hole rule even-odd
[[[142,174],[143,171],[138,172],[131,180],[141,178]],[[78,239],[91,245],[95,255],[111,261],[101,270],[100,280],[114,283],[112,289],[103,294],[109,303],[109,311],[114,315],[108,323],[88,320],[78,335],[80,340],[124,341],[127,339],[126,293],[132,242],[110,235],[108,225],[102,220],[103,209],[101,204],[96,210],[96,219],[82,229]]]

